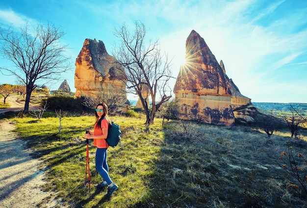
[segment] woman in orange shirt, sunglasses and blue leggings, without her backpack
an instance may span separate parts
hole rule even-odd
[[[86,139],[94,139],[94,146],[97,147],[96,156],[95,156],[95,165],[96,170],[102,177],[103,181],[98,185],[95,185],[96,188],[108,187],[108,192],[105,195],[110,197],[114,191],[118,189],[118,186],[111,181],[108,171],[109,167],[106,162],[106,150],[108,144],[106,142],[106,137],[108,134],[108,127],[111,124],[111,121],[108,118],[108,107],[105,103],[98,104],[95,110],[96,123],[94,125],[94,131],[88,130],[89,133],[85,134]]]

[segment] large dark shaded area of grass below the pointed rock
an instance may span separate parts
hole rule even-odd
[[[288,137],[274,136],[268,144],[266,134],[254,128],[207,124],[164,132],[155,172],[148,179],[152,191],[140,200],[143,207],[307,206],[304,193],[288,188],[297,181],[276,168]],[[306,142],[301,142],[291,140],[306,154]]]

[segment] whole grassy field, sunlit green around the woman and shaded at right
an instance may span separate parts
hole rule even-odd
[[[251,127],[221,127],[194,122],[111,117],[122,129],[121,143],[108,149],[109,174],[119,185],[105,199],[96,191],[96,148],[90,145],[92,188],[84,185],[86,144],[83,134],[94,116],[59,119],[15,118],[17,132],[32,156],[44,160],[44,190],[56,191],[64,205],[77,208],[303,208],[307,195],[275,160],[290,141],[293,151],[307,155],[306,130],[297,141],[278,131],[268,140]],[[306,169],[306,167],[305,167]],[[305,170],[306,171],[306,170]],[[289,186],[290,185],[290,186]],[[48,200],[48,199],[46,199]]]

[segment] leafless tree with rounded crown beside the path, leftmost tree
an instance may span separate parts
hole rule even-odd
[[[52,24],[21,27],[16,31],[12,26],[0,28],[0,54],[13,63],[12,68],[0,68],[26,85],[24,112],[28,112],[32,91],[39,80],[46,83],[58,80],[61,73],[69,70],[69,57],[64,52],[60,39],[64,32]],[[3,72],[2,72],[3,74]]]

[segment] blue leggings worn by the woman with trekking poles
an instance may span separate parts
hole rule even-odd
[[[96,170],[102,177],[103,181],[106,181],[108,184],[111,184],[112,181],[108,174],[109,166],[106,162],[106,156],[106,148],[97,148],[95,156],[95,165]]]

